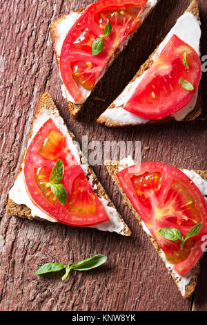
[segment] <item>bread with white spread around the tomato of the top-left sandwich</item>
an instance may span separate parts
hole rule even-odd
[[[152,9],[155,8],[155,6],[157,5],[158,2],[159,2],[159,0],[148,0],[148,2],[146,4],[146,8],[145,8],[144,12],[142,12],[141,17],[140,17],[141,24],[143,23],[144,19],[146,19],[146,17],[150,14]],[[64,15],[62,17],[59,17],[55,21],[53,21],[50,26],[52,43],[53,43],[54,50],[55,50],[55,53],[57,56],[58,67],[59,67],[59,59],[60,59],[60,55],[61,55],[61,47],[63,45],[63,41],[66,38],[66,35],[68,34],[70,28],[72,28],[72,25],[75,24],[75,21],[80,17],[80,15],[83,12],[84,12],[84,9],[81,9],[81,10],[75,11],[75,12],[70,12],[68,15]],[[137,30],[135,30],[135,32],[136,31]],[[110,59],[110,62],[107,64],[104,73],[106,73],[106,71],[112,64],[112,62],[114,62],[114,60],[118,57],[119,53],[121,53],[121,51],[124,49],[124,47],[128,44],[128,41],[135,35],[135,32],[132,33],[132,35],[130,35],[130,37],[128,37],[128,39],[126,39],[123,42],[123,44],[121,44],[120,48],[117,49],[117,51],[115,52],[115,55],[113,55],[112,59]],[[104,75],[104,73],[103,73],[103,75]],[[59,75],[61,77],[60,71],[59,71]],[[103,75],[101,75],[101,77],[103,77]],[[76,104],[76,103],[72,102],[70,93],[68,93],[66,87],[63,84],[63,81],[62,81],[61,89],[62,89],[63,97],[66,98],[66,102],[68,104],[68,108],[69,108],[71,115],[74,118],[76,118],[77,114],[82,109],[84,102],[81,104]],[[90,95],[90,94],[88,94],[88,95]]]

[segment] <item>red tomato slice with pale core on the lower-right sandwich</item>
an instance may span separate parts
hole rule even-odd
[[[201,257],[202,236],[207,234],[207,205],[198,187],[179,169],[163,163],[142,163],[117,174],[119,183],[150,234],[173,264],[184,275]],[[199,234],[180,248],[180,241],[165,239],[161,228],[177,228],[185,237],[197,223]]]

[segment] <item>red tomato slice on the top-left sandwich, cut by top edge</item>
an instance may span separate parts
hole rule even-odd
[[[99,0],[84,10],[63,41],[60,71],[63,83],[75,102],[81,100],[81,86],[91,91],[119,45],[139,24],[147,0]],[[104,38],[105,47],[92,55],[92,43],[103,35],[110,22],[112,32]]]

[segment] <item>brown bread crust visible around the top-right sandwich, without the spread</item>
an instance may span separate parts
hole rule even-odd
[[[186,12],[191,12],[195,17],[197,17],[197,19],[199,19],[199,6],[197,3],[197,0],[190,1],[190,6],[186,10]],[[143,73],[145,71],[147,71],[148,68],[150,68],[150,66],[152,66],[152,64],[154,62],[153,57],[154,57],[155,53],[157,53],[158,48],[159,48],[159,46],[157,46],[155,51],[150,55],[150,57],[148,57],[146,62],[144,64],[142,64],[142,66],[139,68],[139,71],[137,71],[135,77],[132,78],[132,80],[129,82],[129,84],[134,82],[137,79],[137,77],[140,77],[141,75],[143,75]],[[112,104],[110,104],[108,109],[114,109],[114,108],[115,108],[115,104],[114,104],[114,102],[112,102]],[[106,111],[108,109],[106,109]],[[195,108],[193,109],[193,111],[188,113],[186,118],[184,118],[184,121],[190,122],[190,121],[195,120],[196,118],[199,117],[199,115],[201,114],[201,111],[202,111],[202,91],[201,91],[201,84],[200,84],[199,85],[199,93],[198,93],[198,97],[197,97],[197,103],[195,105]],[[135,125],[135,124],[130,124],[130,123],[123,124],[121,122],[115,122],[114,120],[104,116],[103,114],[104,113],[102,113],[99,116],[99,118],[97,119],[97,123],[103,124],[106,127],[129,127],[129,126]],[[145,123],[145,125],[147,125],[147,124],[161,124],[161,123],[168,123],[168,122],[175,122],[175,118],[169,116],[167,118],[162,118],[161,120],[149,120],[147,123]],[[176,122],[179,122],[179,121],[176,121]],[[141,124],[139,124],[139,125],[141,125]]]

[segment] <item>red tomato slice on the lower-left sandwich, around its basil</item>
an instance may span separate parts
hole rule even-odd
[[[64,165],[61,183],[68,195],[65,205],[46,187],[58,159]],[[83,169],[68,149],[66,138],[51,119],[43,124],[28,147],[24,178],[32,202],[61,223],[90,226],[109,220]]]

